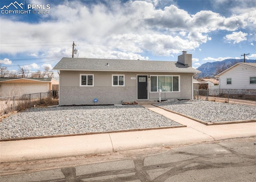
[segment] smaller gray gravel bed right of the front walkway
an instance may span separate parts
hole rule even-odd
[[[161,102],[154,104],[205,122],[256,119],[256,107],[211,101]]]

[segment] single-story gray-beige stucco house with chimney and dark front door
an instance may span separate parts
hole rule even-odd
[[[140,100],[192,99],[192,55],[177,61],[62,58],[59,103],[63,105],[121,104]]]

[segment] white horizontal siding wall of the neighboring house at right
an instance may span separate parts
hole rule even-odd
[[[256,84],[250,84],[250,77],[256,76],[256,69],[244,65],[237,65],[220,75],[221,89],[256,89]],[[231,84],[227,84],[231,78]]]

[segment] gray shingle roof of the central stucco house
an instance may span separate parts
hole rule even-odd
[[[106,66],[108,63],[109,66]],[[132,72],[200,72],[176,61],[123,59],[62,58],[54,70],[132,71]]]

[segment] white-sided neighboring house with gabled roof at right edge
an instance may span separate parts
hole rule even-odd
[[[236,63],[215,77],[220,89],[256,89],[256,63]]]

